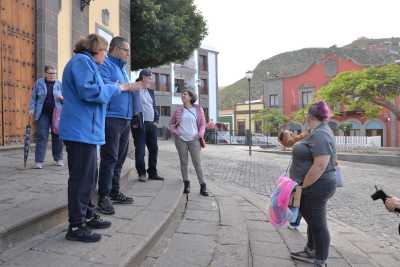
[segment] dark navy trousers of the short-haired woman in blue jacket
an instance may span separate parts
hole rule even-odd
[[[91,195],[96,186],[96,145],[65,141],[68,154],[68,217],[78,226],[93,217]]]

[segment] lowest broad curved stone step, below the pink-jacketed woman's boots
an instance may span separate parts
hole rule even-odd
[[[141,267],[295,266],[265,214],[235,190],[208,184],[211,196],[189,195],[182,221]]]

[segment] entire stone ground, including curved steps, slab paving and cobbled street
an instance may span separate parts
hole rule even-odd
[[[209,145],[202,151],[202,161],[211,196],[198,194],[190,164],[192,192],[186,201],[175,146],[160,141],[159,172],[166,181],[137,182],[134,163],[127,160],[124,191],[136,201],[118,206],[117,214],[107,217],[113,226],[102,231],[104,240],[88,246],[64,239],[67,168],[49,162],[43,170],[24,169],[21,151],[0,152],[0,211],[7,215],[0,217],[1,267],[308,266],[289,256],[305,244],[305,223],[300,231],[292,231],[275,229],[268,222],[269,196],[276,178],[288,167],[289,155],[253,152],[249,157],[244,146]],[[375,184],[400,195],[400,168],[340,165],[346,184],[329,202],[328,265],[399,266],[400,218],[370,195]],[[51,216],[46,214],[60,209],[64,211],[55,215],[57,226],[47,229]],[[36,228],[13,234],[13,229],[38,216],[42,221]],[[21,236],[26,233],[32,238]],[[28,258],[35,260],[27,265]]]

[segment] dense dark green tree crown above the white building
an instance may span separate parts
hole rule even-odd
[[[131,0],[132,69],[182,62],[207,35],[193,0]]]

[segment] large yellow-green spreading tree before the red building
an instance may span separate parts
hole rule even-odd
[[[397,64],[340,73],[318,92],[335,111],[343,111],[345,107],[347,111],[362,110],[367,117],[376,117],[385,107],[400,120],[400,109],[394,102],[399,95],[400,65]]]

